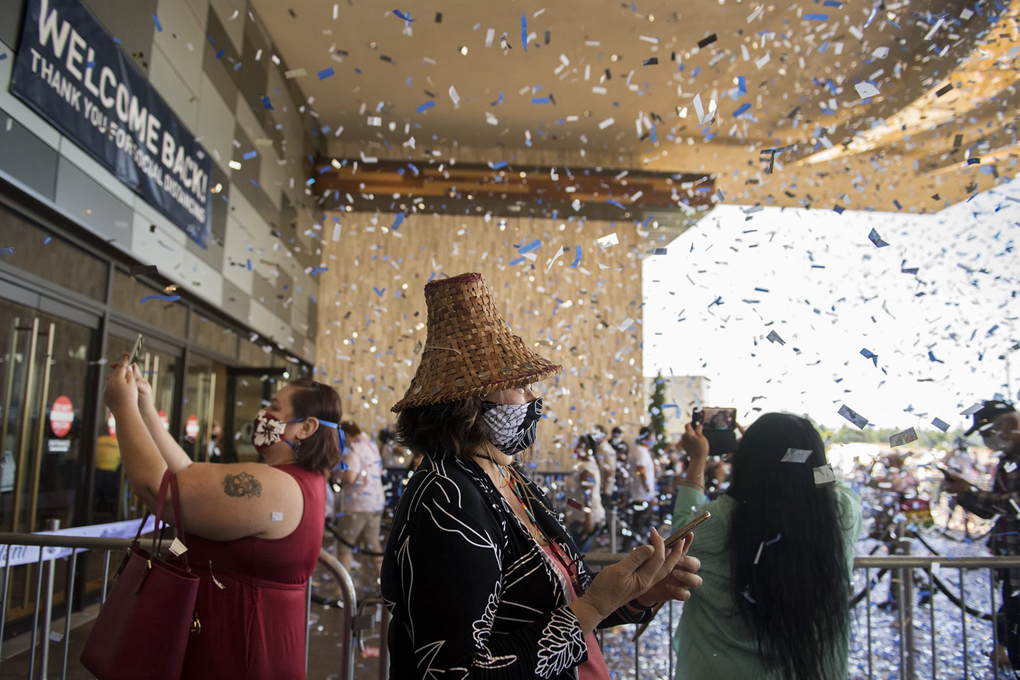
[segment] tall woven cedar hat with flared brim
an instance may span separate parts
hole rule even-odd
[[[523,387],[563,373],[510,331],[480,274],[425,285],[421,362],[394,412]]]

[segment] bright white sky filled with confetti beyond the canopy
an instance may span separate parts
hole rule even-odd
[[[735,405],[743,424],[787,410],[839,427],[846,403],[878,427],[961,425],[1008,393],[998,357],[1020,339],[1018,237],[1020,185],[934,215],[720,205],[645,261],[645,374],[708,377],[707,405]],[[1010,358],[1016,399],[1020,351]]]

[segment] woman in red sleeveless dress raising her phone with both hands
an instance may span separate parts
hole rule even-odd
[[[296,380],[255,420],[252,440],[265,464],[193,463],[128,360],[103,391],[124,473],[149,507],[165,471],[176,473],[189,563],[201,579],[201,632],[189,638],[182,677],[304,678],[305,587],[322,543],[324,473],[343,449],[339,395]]]

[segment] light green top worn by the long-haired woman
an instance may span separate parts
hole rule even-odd
[[[863,519],[861,500],[849,487],[837,483],[835,498],[840,531],[847,549],[847,571],[854,569],[854,544],[861,535]],[[695,530],[691,554],[701,560],[698,574],[702,587],[692,591],[683,603],[680,624],[673,636],[676,652],[675,680],[707,678],[778,678],[773,668],[763,664],[758,655],[758,643],[751,627],[741,617],[730,587],[729,526],[736,501],[723,495],[708,502],[704,493],[681,486],[676,493],[673,526],[681,527],[698,515],[709,511],[711,519]],[[848,610],[849,618],[850,612]],[[837,668],[829,669],[825,678],[846,678],[848,673],[849,639],[840,640]]]

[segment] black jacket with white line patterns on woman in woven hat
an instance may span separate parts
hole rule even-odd
[[[579,567],[582,594],[595,575],[528,485],[544,503],[533,508],[543,531],[562,535]],[[426,455],[400,498],[382,561],[390,677],[576,678],[588,650],[567,587],[480,467]],[[600,628],[641,621],[621,608]]]

